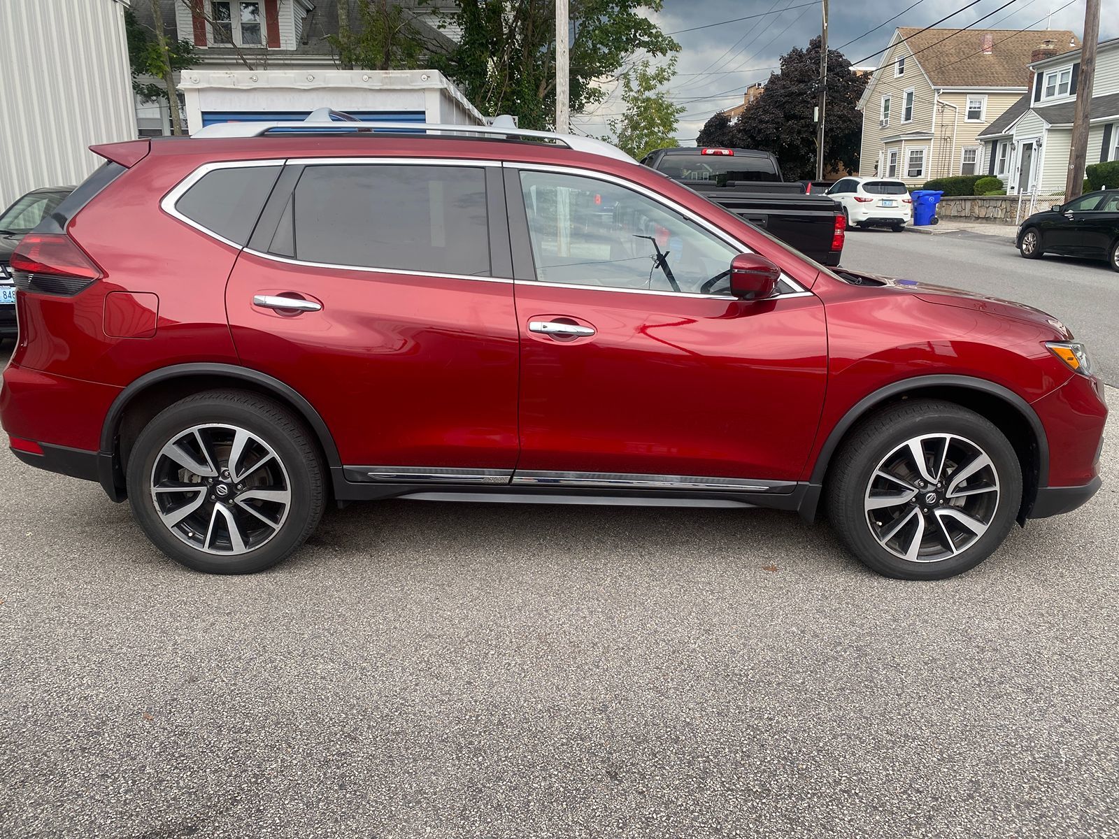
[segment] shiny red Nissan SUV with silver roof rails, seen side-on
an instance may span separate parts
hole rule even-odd
[[[1042,312],[825,268],[583,138],[301,128],[95,147],[11,261],[12,451],[191,568],[414,498],[822,506],[941,578],[1100,486],[1102,385]]]

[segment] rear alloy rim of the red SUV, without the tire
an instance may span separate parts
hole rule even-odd
[[[207,554],[237,556],[283,527],[291,481],[276,452],[236,425],[195,425],[176,434],[151,471],[151,498],[163,526]]]

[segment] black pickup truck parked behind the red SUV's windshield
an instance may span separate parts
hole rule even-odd
[[[781,178],[777,158],[750,149],[658,149],[641,162],[825,265],[843,253],[843,208]]]

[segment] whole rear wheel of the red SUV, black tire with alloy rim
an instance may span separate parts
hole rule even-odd
[[[200,436],[191,432],[198,426]],[[228,441],[239,433],[251,442],[243,445],[242,458],[229,463],[236,441],[232,444]],[[169,459],[162,453],[164,446],[176,441],[180,452],[194,453],[195,461],[216,477],[196,478],[203,470],[179,469],[181,454]],[[167,477],[168,470],[173,477]],[[226,477],[225,471],[234,474]],[[243,473],[239,484],[237,472]],[[188,396],[160,412],[144,426],[132,447],[126,480],[132,515],[148,538],[171,559],[210,574],[252,574],[282,562],[318,526],[327,497],[326,469],[303,423],[279,403],[244,390],[209,390]],[[157,493],[157,483],[161,488],[184,489],[160,489]],[[188,487],[204,484],[209,489],[199,490],[204,498],[198,501],[198,491]],[[219,484],[225,484],[224,500],[218,498]],[[257,493],[286,496],[286,500],[248,498]],[[176,507],[179,498],[185,502]],[[181,524],[170,524],[196,501],[201,505],[197,511]],[[157,505],[163,505],[162,515]],[[219,505],[224,510],[217,509]],[[251,515],[246,505],[260,515]],[[204,535],[207,519],[208,530]],[[234,530],[243,550],[237,550]],[[224,543],[222,532],[226,536]],[[227,553],[222,553],[226,547]]]

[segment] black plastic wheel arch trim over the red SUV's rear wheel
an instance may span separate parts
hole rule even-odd
[[[280,379],[269,376],[265,373],[261,373],[260,370],[254,370],[248,367],[239,367],[237,365],[214,362],[182,364],[171,365],[170,367],[161,367],[158,370],[145,373],[143,376],[125,387],[116,395],[116,398],[113,399],[113,404],[109,407],[109,413],[105,414],[105,421],[101,426],[101,454],[103,456],[113,456],[116,454],[115,437],[117,428],[120,427],[121,418],[124,416],[124,412],[128,409],[129,405],[132,404],[132,400],[145,389],[152,385],[161,384],[176,378],[207,375],[241,379],[242,381],[252,383],[275,394],[278,397],[291,405],[307,422],[307,424],[311,426],[311,431],[314,433],[319,444],[322,446],[322,452],[327,458],[327,465],[341,466],[342,463],[338,455],[338,446],[335,445],[335,439],[330,434],[330,428],[327,427],[327,423],[323,421],[322,416],[302,394],[291,386],[285,385]]]

